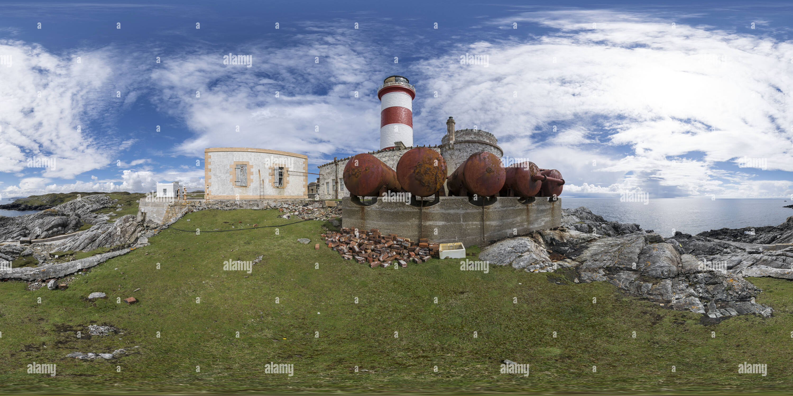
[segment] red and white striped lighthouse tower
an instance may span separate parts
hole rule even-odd
[[[385,78],[377,89],[380,99],[380,149],[396,146],[413,146],[413,99],[416,89],[400,75]]]

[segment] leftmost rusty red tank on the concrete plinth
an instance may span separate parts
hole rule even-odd
[[[384,191],[400,191],[397,172],[372,154],[355,154],[344,166],[344,185],[354,196],[381,196]]]

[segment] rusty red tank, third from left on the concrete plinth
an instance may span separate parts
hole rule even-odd
[[[458,166],[446,185],[456,196],[494,196],[504,187],[506,178],[507,171],[500,158],[488,151],[480,151],[471,154]]]

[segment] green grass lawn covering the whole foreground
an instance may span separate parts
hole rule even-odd
[[[563,272],[460,271],[458,260],[372,269],[343,261],[324,245],[314,249],[329,223],[278,227],[278,234],[276,227],[206,232],[292,223],[278,213],[189,213],[173,227],[193,232],[163,230],[149,238],[151,246],[94,267],[67,290],[25,291],[24,282],[0,282],[0,390],[793,390],[788,280],[748,278],[766,290],[757,301],[774,307],[774,317],[743,315],[703,326],[699,314],[623,297],[607,283],[573,284]],[[259,255],[264,259],[250,274],[223,270],[224,261]],[[108,298],[89,302],[92,291]],[[139,303],[117,303],[130,296]],[[86,337],[94,323],[124,334]],[[132,353],[115,360],[64,357],[117,348]],[[500,374],[502,359],[531,364],[531,373]],[[34,361],[57,364],[56,377],[27,374]],[[294,375],[265,374],[270,362],[294,364]],[[744,362],[768,364],[768,376],[738,374]]]

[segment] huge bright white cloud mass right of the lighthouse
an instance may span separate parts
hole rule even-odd
[[[460,45],[424,62],[427,84],[446,99],[423,100],[423,111],[492,131],[506,154],[538,158],[589,185],[606,172],[615,185],[635,183],[655,196],[741,196],[749,189],[741,185],[769,188],[753,196],[790,191],[727,183],[741,177],[730,170],[740,158],[793,171],[790,42],[608,11],[493,23],[515,20],[557,31]],[[488,55],[488,67],[460,64],[465,54]],[[582,169],[598,157],[607,161]]]

